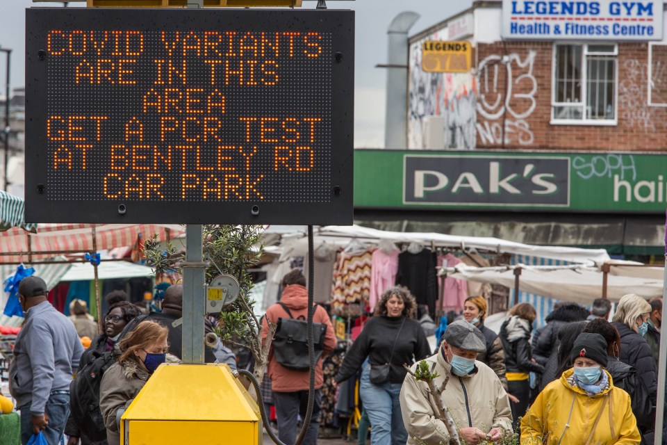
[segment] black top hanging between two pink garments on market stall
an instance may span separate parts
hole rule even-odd
[[[436,255],[428,249],[421,252],[401,252],[398,255],[396,284],[406,286],[418,305],[427,305],[431,317],[436,315],[438,284],[436,277]]]

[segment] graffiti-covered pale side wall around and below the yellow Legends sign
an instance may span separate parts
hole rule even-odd
[[[425,134],[430,124],[442,125],[438,146],[475,147],[477,92],[472,74],[429,73],[421,70],[420,44],[410,57],[408,143],[412,148],[430,148]]]

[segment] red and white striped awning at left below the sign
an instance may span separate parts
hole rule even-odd
[[[93,227],[97,245],[93,247]],[[0,264],[46,259],[64,252],[92,252],[132,246],[141,234],[160,240],[184,233],[181,225],[158,224],[38,224],[37,233],[14,227],[0,233]],[[11,254],[10,254],[11,252]],[[28,253],[32,252],[32,253]]]

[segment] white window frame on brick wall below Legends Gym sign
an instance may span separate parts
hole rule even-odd
[[[609,45],[614,47],[613,52],[609,53],[598,53],[595,51],[588,51],[589,45]],[[575,102],[556,102],[556,58],[557,58],[557,47],[561,45],[568,46],[581,46],[582,47],[582,113],[584,118],[582,119],[556,119],[554,118],[554,107],[556,106],[573,106],[578,104]],[[586,93],[588,85],[588,63],[586,63],[586,56],[615,56],[616,63],[614,64],[614,119],[586,119]],[[552,65],[551,65],[551,118],[550,124],[552,125],[599,125],[602,127],[613,127],[618,125],[618,44],[614,42],[554,42],[552,44]]]

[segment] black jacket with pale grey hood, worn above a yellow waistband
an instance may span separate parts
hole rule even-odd
[[[508,373],[543,373],[544,366],[530,361],[530,330],[528,321],[511,316],[500,327],[500,340],[505,353],[505,366]]]

